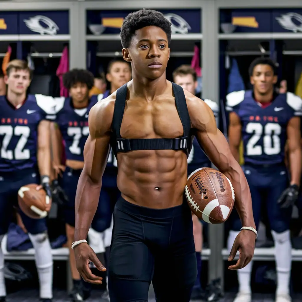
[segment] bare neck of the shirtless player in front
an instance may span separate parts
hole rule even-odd
[[[147,79],[133,72],[132,85],[134,94],[147,100],[153,100],[154,97],[161,95],[167,89],[166,73],[157,79]]]

